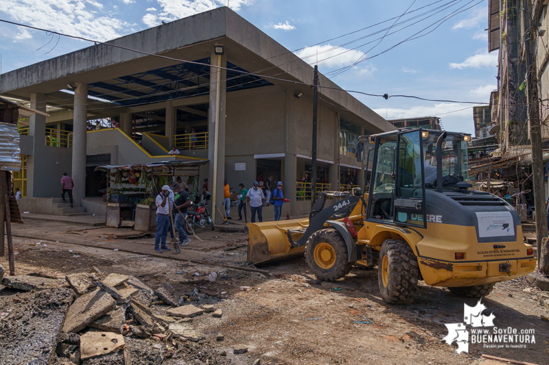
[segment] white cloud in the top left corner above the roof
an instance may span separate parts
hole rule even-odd
[[[127,26],[112,16],[95,16],[85,0],[0,0],[0,9],[20,23],[100,41],[119,37]]]

